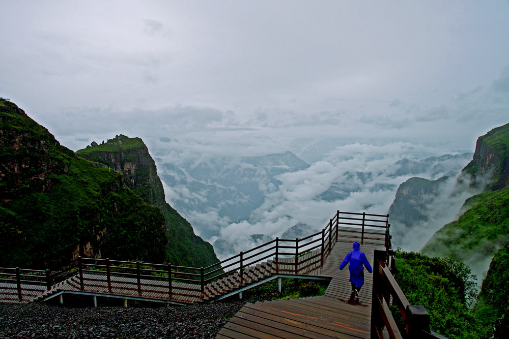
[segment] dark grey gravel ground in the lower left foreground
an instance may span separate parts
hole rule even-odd
[[[0,338],[213,338],[244,304],[94,309],[0,303]]]

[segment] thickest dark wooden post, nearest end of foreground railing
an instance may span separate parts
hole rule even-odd
[[[382,248],[375,248],[373,255],[373,292],[371,300],[371,337],[378,338],[384,325],[382,315],[380,314],[380,300],[383,298],[384,283],[381,276],[381,267],[379,261],[385,258],[385,251]]]

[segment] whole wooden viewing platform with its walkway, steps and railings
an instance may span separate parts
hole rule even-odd
[[[388,304],[397,305],[411,337],[443,338],[429,314],[410,305],[395,282],[388,215],[337,211],[321,232],[276,238],[209,267],[81,258],[63,271],[0,268],[0,302],[35,302],[64,295],[163,302],[214,302],[282,278],[329,281],[323,296],[247,303],[217,338],[402,338]],[[355,300],[349,270],[339,266],[358,241],[373,267]],[[280,286],[280,284],[279,284]],[[392,297],[392,298],[391,298]]]

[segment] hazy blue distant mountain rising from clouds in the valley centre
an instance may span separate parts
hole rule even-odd
[[[292,152],[257,157],[219,157],[176,166],[162,164],[162,179],[178,197],[172,204],[184,215],[217,213],[228,222],[248,220],[265,196],[278,189],[277,176],[307,169],[309,164]],[[210,238],[219,225],[201,230]]]

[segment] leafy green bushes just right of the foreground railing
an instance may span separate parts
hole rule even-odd
[[[476,293],[475,276],[460,261],[430,258],[414,252],[395,254],[394,278],[410,304],[423,305],[430,327],[449,339],[488,338],[490,326],[482,326],[468,308]],[[398,312],[393,312],[402,323]]]

